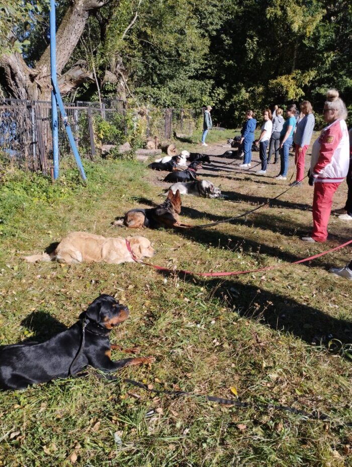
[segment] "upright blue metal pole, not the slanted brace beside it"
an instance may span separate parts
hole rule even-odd
[[[50,0],[50,73],[51,83],[56,83],[56,15],[55,0]],[[51,122],[54,159],[54,180],[59,176],[59,136],[57,106],[54,90],[51,91]]]

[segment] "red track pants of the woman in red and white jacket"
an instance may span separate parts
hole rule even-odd
[[[327,239],[327,224],[331,213],[332,198],[338,189],[339,183],[314,183],[313,198],[313,230],[311,237],[316,242],[325,242]]]

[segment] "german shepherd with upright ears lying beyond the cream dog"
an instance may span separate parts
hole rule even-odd
[[[181,213],[180,190],[175,194],[169,190],[166,200],[156,208],[131,209],[123,219],[118,219],[112,225],[129,227],[130,229],[157,229],[159,227],[183,227],[180,225]]]

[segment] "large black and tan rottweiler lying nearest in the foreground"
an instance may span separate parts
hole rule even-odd
[[[87,365],[111,372],[127,365],[154,362],[154,357],[111,360],[111,350],[121,348],[110,344],[109,334],[128,315],[127,307],[103,294],[80,314],[80,321],[46,342],[1,347],[0,389],[24,389],[55,378],[67,378]],[[139,349],[126,352],[139,353]]]

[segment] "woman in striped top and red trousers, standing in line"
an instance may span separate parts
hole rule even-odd
[[[304,178],[305,155],[312,138],[315,124],[311,103],[309,101],[303,101],[300,105],[300,108],[303,114],[303,118],[298,122],[296,133],[293,137],[293,141],[296,144],[296,180],[290,183],[290,185],[296,186],[299,186],[302,183],[302,179]]]

